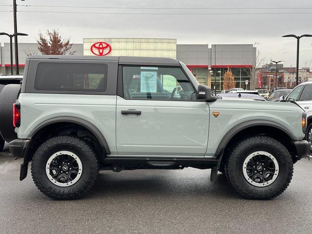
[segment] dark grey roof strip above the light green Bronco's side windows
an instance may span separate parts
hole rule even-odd
[[[120,65],[157,65],[180,66],[177,59],[132,57],[132,56],[75,56],[75,55],[32,55],[27,59],[71,59],[71,60],[109,60],[118,61]]]

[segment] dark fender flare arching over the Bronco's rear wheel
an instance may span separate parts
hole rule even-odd
[[[105,152],[107,155],[111,154],[107,141],[105,137],[103,136],[103,134],[98,130],[98,128],[94,126],[92,123],[90,123],[89,121],[84,120],[82,118],[78,118],[78,117],[62,116],[62,117],[54,117],[54,118],[45,120],[42,123],[40,123],[36,128],[33,129],[33,131],[29,135],[29,138],[34,137],[35,134],[38,133],[43,127],[48,126],[53,123],[59,123],[59,122],[75,123],[75,124],[81,125],[82,127],[85,127],[97,138],[103,152]]]

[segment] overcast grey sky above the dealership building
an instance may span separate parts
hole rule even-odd
[[[11,5],[13,0],[1,0]],[[123,15],[42,13],[42,11],[118,12],[118,13],[252,13],[311,12],[311,0],[17,0],[20,5],[152,7],[174,9],[104,9],[22,7],[18,12],[18,31],[29,34],[19,42],[35,42],[38,32],[57,28],[73,43],[83,38],[173,38],[178,44],[256,45],[266,61],[285,60],[295,66],[296,40],[281,38],[285,34],[312,34],[312,14],[268,15]],[[274,8],[302,7],[306,9],[211,9],[211,8]],[[308,8],[310,7],[310,9]],[[210,9],[175,9],[210,8]],[[0,11],[12,6],[0,6]],[[40,12],[41,11],[41,12]],[[1,29],[13,33],[13,12],[1,12]],[[0,42],[8,42],[0,37]],[[312,59],[312,38],[300,40],[300,65],[309,66]],[[311,65],[312,66],[312,65]]]

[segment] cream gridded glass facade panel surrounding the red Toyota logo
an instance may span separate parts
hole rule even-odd
[[[96,42],[108,43],[108,56],[165,57],[176,59],[176,39],[94,38],[83,39],[83,55],[93,55],[91,46]],[[105,53],[109,49],[105,49]]]

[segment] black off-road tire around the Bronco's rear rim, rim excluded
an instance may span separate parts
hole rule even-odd
[[[53,184],[45,170],[49,157],[62,150],[75,153],[83,166],[81,177],[69,187]],[[93,149],[83,140],[68,136],[53,137],[42,143],[31,165],[31,174],[37,188],[44,195],[56,200],[77,199],[85,195],[97,179],[98,171],[98,160]]]

